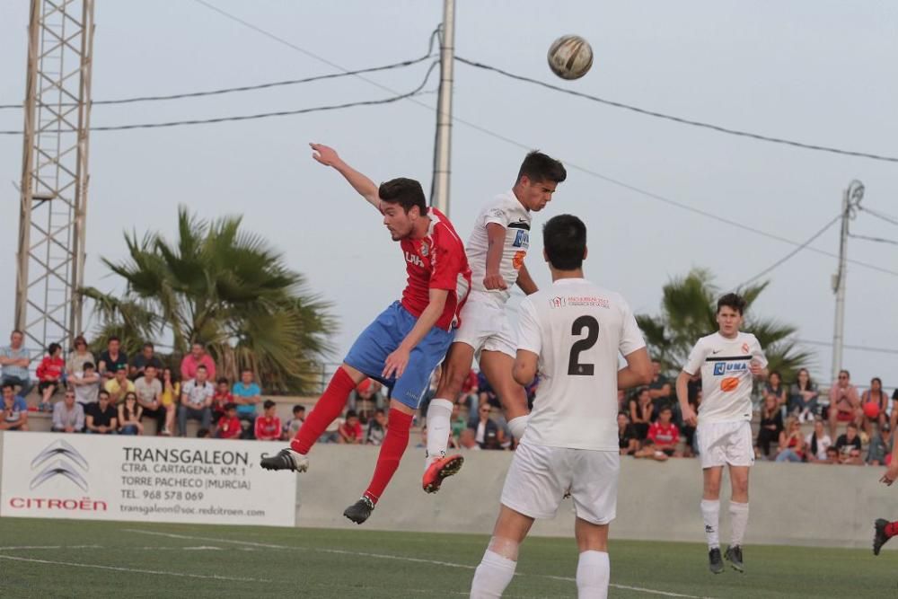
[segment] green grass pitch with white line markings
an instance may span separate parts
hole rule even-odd
[[[3,518],[0,596],[462,597],[487,541],[361,528]],[[862,550],[749,546],[747,574],[727,569],[716,577],[695,543],[613,541],[611,558],[611,597],[665,596],[626,587],[727,599],[898,596],[891,551],[874,558]],[[576,596],[576,564],[573,539],[529,539],[506,597]]]

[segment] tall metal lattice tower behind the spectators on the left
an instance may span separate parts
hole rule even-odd
[[[93,0],[31,0],[15,327],[41,349],[81,330],[92,47]]]

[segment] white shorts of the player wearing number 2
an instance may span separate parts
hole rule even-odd
[[[577,517],[608,524],[617,515],[621,455],[592,449],[518,445],[502,489],[502,505],[550,519],[570,489]]]

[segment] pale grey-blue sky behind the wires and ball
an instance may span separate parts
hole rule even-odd
[[[333,73],[423,56],[442,19],[438,0],[245,3],[206,0],[96,3],[94,100],[195,92]],[[6,0],[0,18],[0,104],[24,95],[28,3]],[[810,144],[898,155],[898,5],[827,0],[687,0],[564,3],[511,0],[456,6],[456,53],[515,74],[686,119]],[[564,82],[546,50],[575,33],[594,50],[592,70]],[[316,55],[315,58],[311,55]],[[408,92],[429,61],[389,72],[202,99],[95,106],[97,126],[296,110]],[[358,332],[397,299],[405,280],[398,244],[380,216],[333,172],[313,162],[321,142],[374,181],[409,176],[430,188],[436,72],[411,100],[381,106],[180,128],[94,132],[85,283],[123,293],[101,258],[121,260],[123,232],[174,233],[177,207],[198,216],[242,215],[308,289],[333,303],[339,359]],[[838,215],[841,193],[863,181],[863,207],[898,215],[898,164],[811,152],[722,135],[568,96],[456,64],[450,217],[466,239],[482,204],[511,188],[527,148],[568,165],[568,181],[534,216],[588,228],[586,276],[620,291],[636,313],[657,313],[662,286],[701,267],[737,286],[793,246],[654,196],[804,242]],[[0,130],[22,126],[0,110]],[[0,330],[13,326],[22,140],[0,136]],[[612,181],[624,183],[626,186]],[[8,183],[7,183],[8,182]],[[639,193],[638,188],[646,193]],[[861,211],[853,233],[898,240],[898,226]],[[533,234],[528,268],[550,283]],[[838,227],[812,247],[837,252]],[[898,245],[851,239],[849,256],[898,270]],[[837,260],[810,251],[774,269],[758,314],[832,341]],[[850,264],[845,341],[898,352],[898,277]],[[515,300],[519,301],[519,300]],[[812,374],[829,379],[831,348]],[[857,383],[898,386],[898,353],[845,349]]]

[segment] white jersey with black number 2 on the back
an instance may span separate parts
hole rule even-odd
[[[619,354],[646,342],[620,294],[562,278],[524,299],[517,347],[540,357],[540,385],[523,441],[618,451]]]

